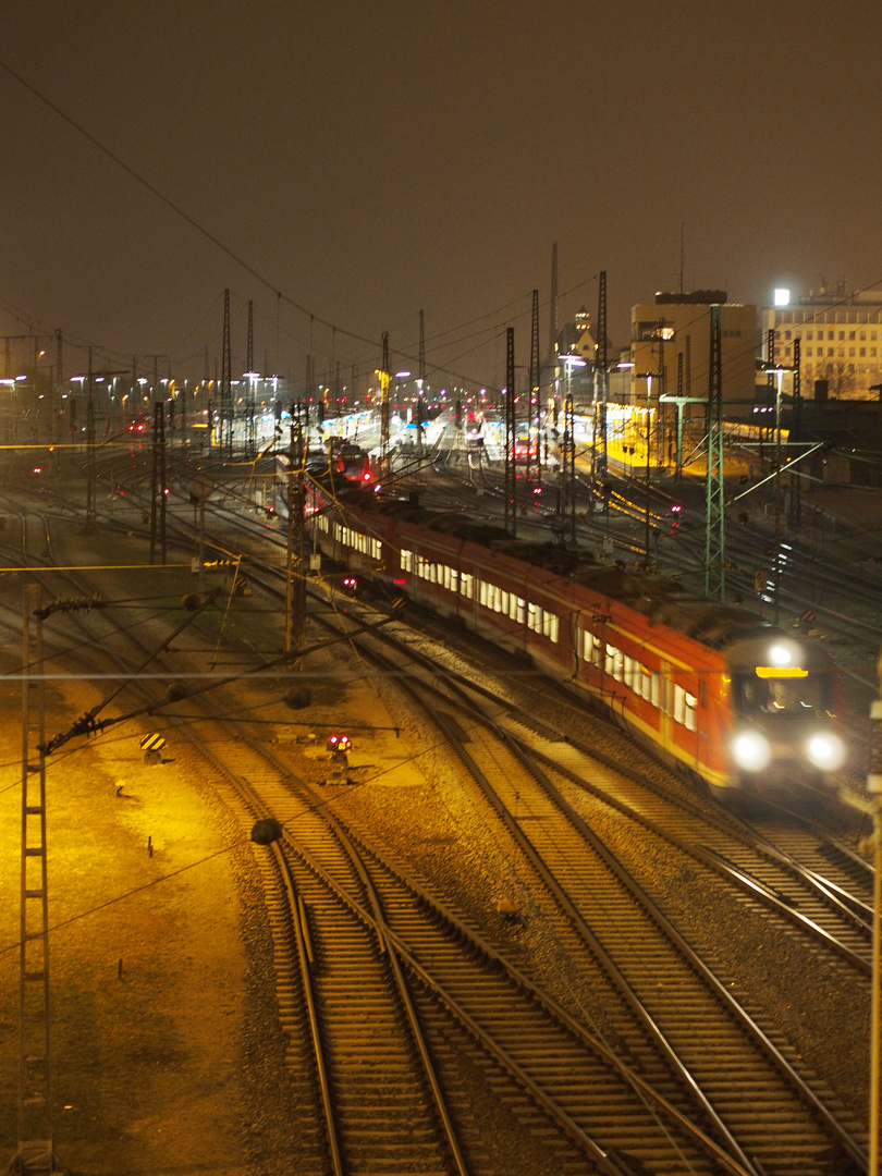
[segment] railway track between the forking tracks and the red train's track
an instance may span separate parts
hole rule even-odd
[[[388,632],[383,636],[387,643]],[[365,637],[358,640],[360,646],[365,644]],[[537,768],[535,757],[529,762],[534,747],[523,739],[514,741],[510,731],[500,740],[499,721],[476,719],[474,711],[474,721],[463,730],[466,708],[453,708],[457,720],[446,714],[450,708],[450,683],[445,681],[439,688],[436,666],[425,667],[429,680],[421,680],[417,686],[406,659],[386,650],[382,660],[387,674],[422,695],[427,714],[445,730],[450,746],[480,782],[488,803],[503,818],[576,929],[582,955],[587,951],[599,958],[607,975],[615,978],[620,996],[623,994],[632,1010],[637,1010],[642,1028],[652,1027],[656,1049],[673,1060],[681,1076],[701,1091],[707,1112],[716,1118],[719,1129],[736,1141],[740,1155],[756,1157],[761,1168],[769,1170],[784,1171],[790,1164],[790,1170],[804,1172],[814,1170],[813,1163],[818,1161],[822,1170],[833,1137],[851,1162],[862,1163],[860,1129],[854,1123],[841,1125],[840,1118],[846,1117],[841,1108],[834,1105],[830,1110],[826,1105],[831,1101],[829,1091],[823,1097],[813,1094],[797,1073],[793,1050],[787,1049],[780,1036],[775,1040],[773,1030],[762,1029],[747,1015],[733,1000],[728,977],[714,975],[635,882],[630,870],[615,860],[604,844],[609,834],[604,841],[596,837],[586,818]],[[496,730],[492,731],[494,727]],[[575,754],[568,749],[568,755]],[[548,756],[543,759],[548,762]],[[556,768],[560,770],[561,764]],[[584,763],[576,771],[573,763],[568,767],[576,780],[584,771]],[[595,811],[593,821],[597,820]],[[650,823],[644,821],[644,827]],[[622,836],[620,830],[612,840],[633,838]],[[670,843],[668,835],[664,840]],[[641,848],[653,855],[647,838]],[[708,856],[704,855],[706,862]],[[764,897],[789,909],[771,894]],[[827,938],[826,933],[820,934]],[[836,943],[838,948],[840,942]],[[860,967],[862,958],[848,948],[844,951]],[[568,954],[577,958],[577,949],[570,948]],[[575,967],[593,965],[596,963],[584,958]],[[620,1024],[616,1031],[624,1040],[634,1038],[633,1029],[626,1030]],[[702,1044],[708,1042],[714,1043],[711,1049]],[[746,1073],[755,1075],[749,1085],[743,1081]],[[755,1089],[754,1083],[763,1089],[759,1105],[754,1105],[751,1097],[744,1097],[746,1090]],[[811,1104],[824,1122],[816,1135],[817,1124],[806,1114],[806,1104]],[[726,1107],[726,1114],[717,1115],[717,1107]],[[784,1121],[790,1124],[787,1129],[782,1125]]]

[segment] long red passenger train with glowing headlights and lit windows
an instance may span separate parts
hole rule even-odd
[[[833,659],[743,609],[415,503],[323,505],[321,549],[588,693],[714,794],[842,767]]]

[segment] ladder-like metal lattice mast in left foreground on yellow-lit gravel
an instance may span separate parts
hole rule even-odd
[[[40,586],[27,584],[21,623],[21,889],[19,1145],[13,1172],[54,1172],[46,868],[46,702]]]

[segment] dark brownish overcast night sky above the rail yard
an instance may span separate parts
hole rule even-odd
[[[213,374],[229,287],[234,372],[253,299],[260,368],[374,367],[383,330],[415,353],[422,308],[430,365],[499,383],[533,288],[546,347],[553,241],[559,318],[606,269],[623,345],[681,226],[687,289],[882,279],[878,0],[6,0],[2,28],[6,66],[260,275],[0,71],[0,326],[61,327],[66,368],[88,342],[199,377],[208,345]]]

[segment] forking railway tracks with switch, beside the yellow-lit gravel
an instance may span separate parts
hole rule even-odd
[[[91,621],[80,619],[86,628]],[[105,652],[111,634],[112,624],[92,627]],[[134,643],[132,632],[122,643]],[[180,659],[174,667],[151,661],[165,681],[203,673]],[[119,674],[126,673],[122,659]],[[135,689],[143,694],[145,683]],[[507,1108],[515,1136],[524,1145],[537,1138],[567,1170],[630,1176],[641,1164],[683,1163],[696,1172],[749,1170],[425,884],[367,844],[355,848],[327,803],[268,751],[262,733],[230,724],[226,711],[240,704],[240,696],[215,703],[218,731],[203,736],[203,754],[252,807],[249,820],[272,813],[293,830],[269,906],[280,1017],[301,1083],[305,1172],[309,1164],[316,1174],[493,1170],[461,1076],[463,1043],[480,1056],[490,1101]],[[162,702],[154,699],[151,710],[154,722],[161,719]],[[313,1048],[305,1054],[295,1042],[310,1040],[308,1027]]]

